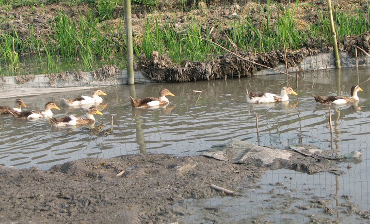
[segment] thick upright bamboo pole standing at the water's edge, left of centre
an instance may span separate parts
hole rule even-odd
[[[131,0],[125,0],[125,23],[126,23],[126,53],[127,53],[127,75],[129,85],[135,84],[134,79],[134,56],[132,44],[132,17]]]

